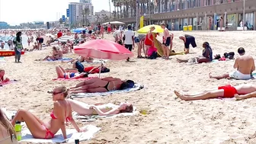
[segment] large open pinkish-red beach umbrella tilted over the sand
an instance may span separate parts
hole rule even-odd
[[[133,57],[124,46],[110,40],[90,40],[74,48],[76,54],[84,57],[122,60]]]

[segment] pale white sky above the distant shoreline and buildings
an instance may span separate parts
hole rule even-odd
[[[108,0],[91,1],[94,12],[110,9]],[[69,2],[79,2],[79,0],[0,0],[0,21],[11,25],[33,21],[56,21],[62,15],[66,15]],[[111,11],[113,10],[114,6],[111,2]]]

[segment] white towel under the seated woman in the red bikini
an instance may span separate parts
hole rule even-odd
[[[79,139],[79,141],[85,141],[88,139],[91,139],[94,136],[94,133],[97,133],[100,128],[97,126],[84,126],[82,129],[87,129],[86,132],[78,133],[75,129],[67,129],[67,139],[63,139],[62,131],[59,130],[56,135],[53,137],[53,139],[34,139],[31,135],[30,131],[22,130],[22,140],[19,142],[32,142],[32,143],[62,143],[62,142],[68,142],[68,143],[75,143],[75,139]]]

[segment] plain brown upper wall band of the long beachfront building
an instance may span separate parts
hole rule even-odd
[[[210,5],[200,8],[190,8],[186,10],[180,11],[171,11],[165,13],[158,13],[152,14],[151,20],[152,21],[159,21],[159,20],[168,20],[168,19],[175,19],[175,18],[196,18],[197,14],[199,17],[204,17],[205,13],[207,15],[216,14],[236,14],[242,13],[243,11],[243,1],[241,2],[231,2],[222,5]],[[245,1],[245,13],[254,12],[256,11],[256,0],[246,0]],[[145,17],[146,20],[149,20],[149,15]],[[122,18],[118,19],[117,21],[122,21],[124,23],[131,23],[136,22],[136,17],[133,18]]]

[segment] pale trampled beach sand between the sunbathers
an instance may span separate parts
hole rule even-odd
[[[202,143],[202,144],[244,144],[256,142],[256,99],[244,101],[235,99],[211,99],[205,101],[181,101],[174,95],[174,90],[190,93],[216,88],[219,85],[239,85],[255,83],[255,80],[235,81],[210,79],[209,72],[222,75],[232,72],[234,60],[228,62],[212,62],[190,65],[176,62],[176,58],[199,56],[202,44],[208,41],[213,48],[213,54],[235,52],[240,46],[246,53],[256,55],[254,31],[248,32],[181,32],[174,31],[173,50],[182,51],[184,44],[178,40],[180,34],[191,34],[196,37],[197,48],[183,56],[171,56],[164,59],[136,59],[136,50],[132,62],[108,61],[109,73],[102,77],[113,76],[121,79],[132,79],[145,85],[140,91],[123,94],[112,94],[106,97],[75,98],[88,104],[96,102],[118,103],[129,101],[138,110],[146,110],[147,114],[134,117],[116,117],[100,119],[91,123],[76,120],[79,126],[94,124],[101,127],[93,139],[80,143]],[[112,40],[112,35],[105,34]],[[70,87],[78,82],[57,82],[55,66],[72,67],[61,62],[35,62],[48,55],[47,50],[26,53],[21,57],[23,63],[14,63],[14,57],[6,57],[6,62],[0,62],[6,76],[17,79],[18,82],[0,88],[1,106],[8,110],[24,108],[33,110],[40,119],[50,120],[53,108],[52,96],[46,91],[58,85]],[[75,54],[65,54],[65,57],[77,57]],[[85,64],[85,66],[99,66]],[[69,126],[72,128],[72,126]]]

